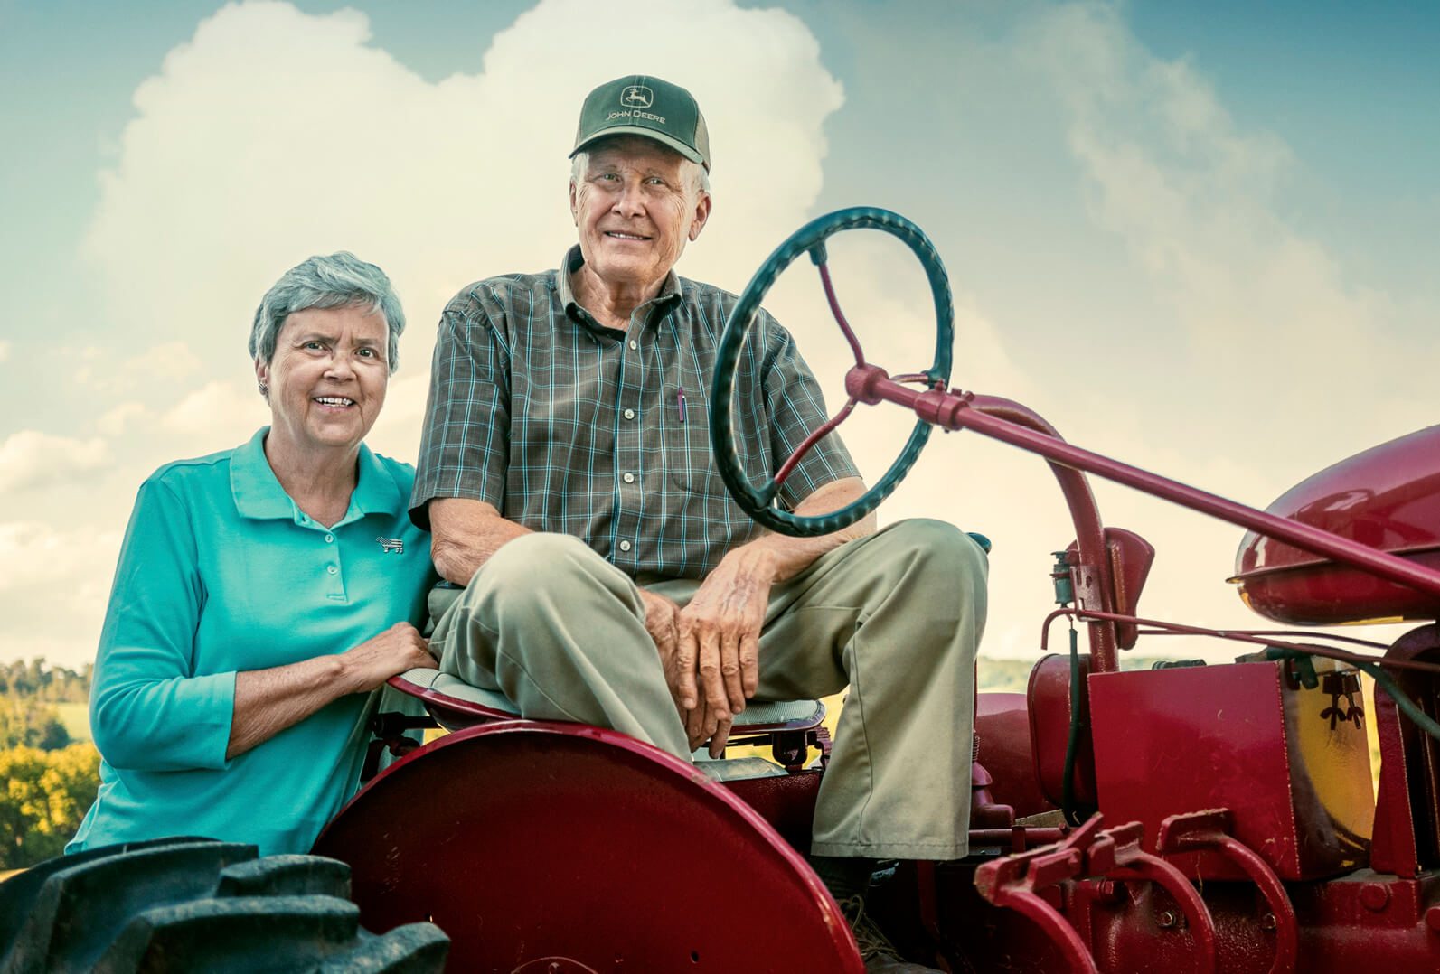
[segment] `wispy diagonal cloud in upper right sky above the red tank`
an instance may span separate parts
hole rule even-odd
[[[1068,112],[1093,219],[1125,240],[1185,328],[1145,337],[1176,342],[1176,371],[1200,363],[1204,380],[1188,378],[1233,419],[1263,396],[1269,414],[1295,417],[1286,439],[1306,446],[1339,434],[1358,449],[1377,413],[1394,434],[1428,422],[1407,378],[1424,381],[1433,355],[1395,355],[1392,301],[1348,278],[1279,209],[1300,168],[1289,145],[1241,127],[1188,60],[1149,53],[1117,7],[1054,9],[1027,42]],[[1364,416],[1346,397],[1316,396],[1385,370],[1400,370],[1391,390],[1407,393],[1381,391]]]

